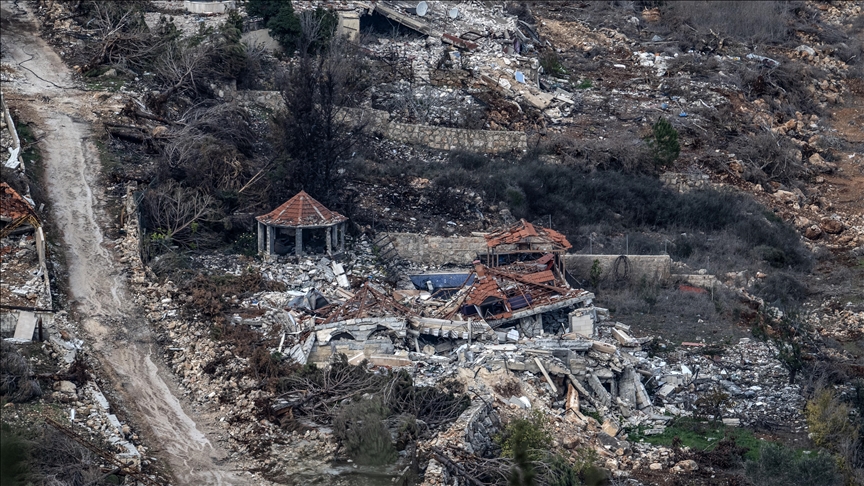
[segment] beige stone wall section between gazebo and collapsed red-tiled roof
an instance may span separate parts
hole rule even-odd
[[[443,237],[414,233],[389,233],[393,247],[403,260],[425,265],[470,265],[486,253],[482,236]]]

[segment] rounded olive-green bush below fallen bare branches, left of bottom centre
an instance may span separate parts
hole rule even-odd
[[[384,420],[390,411],[377,399],[343,405],[333,419],[333,434],[358,464],[378,466],[396,460],[396,447]]]

